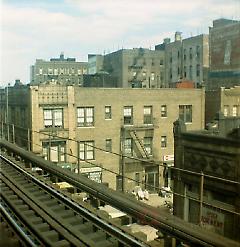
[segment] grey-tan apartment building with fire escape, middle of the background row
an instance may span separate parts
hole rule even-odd
[[[117,87],[164,87],[164,52],[121,49],[104,56],[103,69],[117,78]]]

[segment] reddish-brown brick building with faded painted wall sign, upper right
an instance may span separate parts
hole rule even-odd
[[[240,21],[217,19],[209,28],[207,89],[240,85]]]

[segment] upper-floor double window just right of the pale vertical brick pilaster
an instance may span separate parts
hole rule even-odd
[[[77,126],[88,127],[94,125],[94,107],[77,108]]]

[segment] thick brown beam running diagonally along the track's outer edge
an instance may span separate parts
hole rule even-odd
[[[52,175],[61,178],[75,187],[88,192],[102,201],[126,212],[127,214],[140,219],[162,232],[186,241],[194,246],[218,246],[218,247],[239,247],[240,243],[209,232],[200,226],[185,222],[184,220],[169,216],[141,202],[133,200],[129,196],[97,184],[82,175],[73,174],[70,171],[56,167],[52,162],[46,161],[35,154],[17,147],[5,140],[0,139],[0,146],[9,149],[11,152],[31,161]]]

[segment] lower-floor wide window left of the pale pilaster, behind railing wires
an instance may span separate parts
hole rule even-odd
[[[66,162],[66,143],[52,141],[42,143],[42,154],[46,160],[52,162]]]

